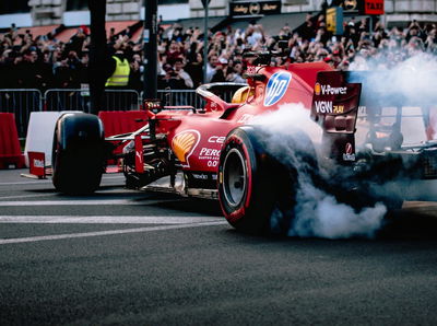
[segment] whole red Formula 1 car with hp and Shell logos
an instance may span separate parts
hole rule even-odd
[[[377,201],[397,207],[402,202],[400,191],[376,191],[373,185],[437,177],[429,108],[418,109],[428,140],[405,144],[403,104],[389,103],[391,108],[385,114],[379,100],[387,96],[364,96],[365,73],[332,71],[323,62],[269,67],[271,54],[252,55],[258,63],[249,67],[247,85],[200,86],[197,93],[205,101],[202,108],[162,107],[151,102],[144,127],[131,133],[105,139],[98,117],[61,116],[52,150],[56,189],[94,191],[105,162],[115,159],[122,162],[127,187],[140,189],[169,177],[175,191],[218,199],[233,226],[258,233],[271,228],[270,218],[277,212],[286,217],[283,228],[288,228],[302,183],[312,183],[355,208]],[[223,101],[217,94],[224,89],[235,90],[234,97],[240,98]],[[279,138],[251,120],[297,103],[319,125],[321,150],[316,152],[308,130],[291,124],[273,154],[271,142]],[[116,154],[120,145],[123,150]],[[299,178],[303,174],[304,179]]]

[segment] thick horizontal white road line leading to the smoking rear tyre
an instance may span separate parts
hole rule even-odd
[[[43,224],[189,224],[224,221],[218,217],[71,217],[71,216],[0,216],[0,223],[43,223]]]

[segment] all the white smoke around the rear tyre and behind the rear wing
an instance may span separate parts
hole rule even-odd
[[[418,140],[426,141],[425,124],[435,125],[434,139],[437,139],[437,92],[435,90],[437,59],[421,54],[400,62],[390,70],[381,71],[381,67],[383,65],[380,62],[373,62],[369,66],[370,70],[375,68],[374,70],[379,73],[367,80],[364,95],[381,96],[382,105],[394,100],[398,101],[397,105],[410,106],[403,107],[403,115],[410,115],[410,117],[402,118],[401,132],[404,143],[409,143],[409,139],[413,139],[415,143]],[[365,98],[362,96],[363,100]],[[412,105],[415,107],[411,108]],[[423,114],[428,116],[424,117]],[[296,137],[296,129],[303,130],[309,136],[317,151],[320,149],[322,130],[309,118],[309,109],[302,104],[283,105],[279,110],[255,118],[251,124],[260,126],[268,132],[268,150],[280,160],[290,160],[295,165],[305,164],[295,156],[294,149],[287,150],[284,144],[281,145],[284,143],[284,137],[291,135]],[[303,147],[305,147],[305,142]],[[297,166],[300,173],[296,205],[294,211],[291,212],[294,219],[288,230],[290,236],[373,237],[382,226],[383,217],[387,213],[383,203],[378,202],[374,207],[365,207],[356,211],[354,208],[339,202],[334,196],[315,185],[308,174],[302,173],[306,170],[305,167],[307,166]],[[334,168],[346,167],[336,166]],[[329,175],[326,171],[320,171],[320,173],[324,176]],[[377,195],[393,194],[398,196],[403,191],[403,187],[408,188],[409,182],[404,185],[389,183],[375,187],[371,191]],[[272,229],[281,224],[283,219],[286,219],[284,212],[276,209],[271,218]]]

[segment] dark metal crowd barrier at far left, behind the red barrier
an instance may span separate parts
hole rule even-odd
[[[43,95],[39,90],[2,89],[0,90],[0,112],[15,115],[20,138],[26,137],[31,112],[42,110]]]

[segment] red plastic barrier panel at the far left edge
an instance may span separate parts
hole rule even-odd
[[[24,167],[15,118],[12,113],[0,113],[0,168]]]

